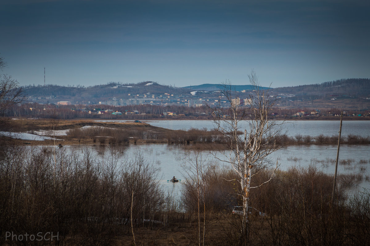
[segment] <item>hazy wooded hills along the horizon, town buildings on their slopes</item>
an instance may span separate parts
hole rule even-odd
[[[193,95],[196,97],[218,97],[222,84],[201,84],[195,86],[173,87],[158,82],[145,81],[139,83],[110,82],[96,86],[26,86],[25,93],[30,101],[37,103],[56,103],[57,101],[71,101],[75,103],[97,104],[108,98],[142,98],[151,94]],[[260,87],[260,89],[268,89]],[[253,90],[251,85],[232,85],[232,90]],[[370,79],[340,79],[320,84],[302,86],[278,87],[270,91],[279,98],[279,105],[292,107],[370,107]],[[139,95],[139,96],[137,96]],[[240,93],[247,97],[248,93]]]

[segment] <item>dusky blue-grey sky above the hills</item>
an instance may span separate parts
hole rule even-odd
[[[1,0],[20,85],[261,86],[370,77],[370,1]]]

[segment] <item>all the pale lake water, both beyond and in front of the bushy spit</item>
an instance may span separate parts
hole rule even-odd
[[[105,120],[114,121],[114,120]],[[118,121],[118,122],[132,122]],[[143,121],[147,124],[173,130],[188,130],[191,128],[215,128],[215,124],[210,120],[160,120]],[[243,128],[248,129],[248,121],[241,122]],[[289,136],[310,135],[317,136],[324,134],[326,136],[338,135],[340,120],[337,121],[287,121],[284,125],[284,131]],[[370,136],[370,121],[343,121],[342,136],[349,134]],[[96,146],[98,151],[100,146]],[[189,165],[189,159],[194,160],[191,152],[186,152],[181,146],[167,144],[147,144],[131,145],[127,148],[125,156],[131,155],[136,151],[144,153],[149,162],[154,163],[160,169],[161,182],[170,192],[179,193],[181,182],[170,183],[167,180],[176,176],[178,179],[184,179],[186,172],[184,166]],[[272,162],[276,160],[280,164],[281,170],[287,170],[289,167],[308,167],[315,165],[319,170],[334,174],[335,159],[337,154],[336,145],[295,145],[286,149],[280,149],[270,155]],[[202,152],[203,159],[206,158],[212,164],[222,166],[223,163],[216,160],[208,151]],[[346,160],[346,161],[344,161]],[[342,164],[341,164],[342,163]],[[228,165],[226,165],[228,166]],[[349,190],[370,189],[370,145],[341,145],[339,153],[338,174],[360,174],[363,179],[355,187]]]

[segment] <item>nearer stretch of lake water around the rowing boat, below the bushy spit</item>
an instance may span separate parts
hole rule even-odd
[[[73,152],[81,152],[80,146],[66,146]],[[104,149],[105,148],[105,149]],[[92,150],[97,156],[101,157],[107,147],[101,145],[92,146]],[[181,145],[168,144],[146,144],[146,145],[129,145],[124,147],[121,160],[126,159],[136,153],[141,152],[147,162],[159,169],[159,180],[170,193],[179,194],[181,192],[181,182],[171,183],[167,180],[175,176],[177,179],[184,180],[186,170],[189,167],[189,161],[194,160],[194,153],[185,151]],[[280,149],[270,155],[270,160],[279,163],[279,169],[287,170],[289,167],[308,167],[310,164],[316,165],[317,169],[326,173],[334,174],[335,159],[337,147],[331,145],[295,145],[287,149]],[[220,153],[217,154],[221,156]],[[202,152],[202,159],[206,162],[219,166],[230,167],[217,160],[208,151]],[[361,174],[362,181],[357,186],[349,190],[370,189],[370,151],[367,145],[342,145],[340,148],[339,160],[349,160],[350,163],[338,164],[338,174]]]

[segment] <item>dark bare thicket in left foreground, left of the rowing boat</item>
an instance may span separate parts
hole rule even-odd
[[[46,244],[111,245],[136,228],[166,228],[176,206],[159,185],[158,170],[141,153],[125,162],[119,156],[115,148],[97,158],[88,148],[77,154],[3,144],[0,244],[25,243],[5,242],[7,231],[59,233],[58,241]]]

